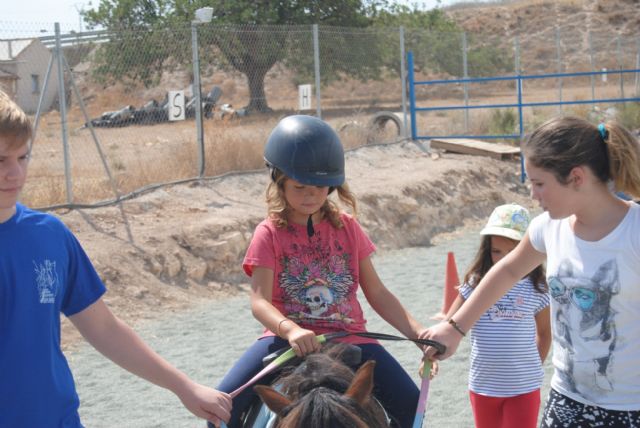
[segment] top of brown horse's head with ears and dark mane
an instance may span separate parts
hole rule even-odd
[[[382,406],[372,397],[375,361],[354,374],[344,362],[348,345],[325,346],[278,380],[280,391],[254,389],[274,411],[280,428],[386,428]]]

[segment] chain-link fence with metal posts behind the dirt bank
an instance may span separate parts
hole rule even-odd
[[[517,38],[195,23],[81,33],[39,23],[0,21],[0,28],[0,87],[37,124],[23,194],[37,207],[112,203],[166,183],[262,168],[263,144],[288,114],[321,116],[347,148],[397,141],[407,135],[408,51],[416,78],[425,80],[640,68],[638,36],[583,32],[578,38],[554,28]],[[598,77],[527,80],[523,94],[529,102],[639,94],[637,73]],[[416,97],[424,106],[511,103],[514,85],[430,85]],[[176,103],[181,96],[184,104]],[[184,120],[171,120],[176,106]],[[558,109],[531,109],[527,127]],[[563,113],[588,116],[592,109],[564,106]],[[600,113],[608,109],[600,106]],[[374,122],[380,112],[393,120]],[[417,121],[433,135],[511,126],[496,125],[494,115],[451,110]]]

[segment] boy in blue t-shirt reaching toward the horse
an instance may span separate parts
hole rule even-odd
[[[106,291],[75,236],[17,203],[29,164],[29,118],[0,91],[0,427],[82,427],[60,349],[60,313],[98,351],[175,393],[194,415],[228,420],[231,398],[156,354],[106,306]]]

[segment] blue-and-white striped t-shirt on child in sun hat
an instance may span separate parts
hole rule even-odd
[[[473,292],[460,287],[466,300]],[[471,329],[469,389],[489,397],[513,397],[540,389],[544,377],[536,346],[535,316],[549,305],[531,280],[518,282]]]

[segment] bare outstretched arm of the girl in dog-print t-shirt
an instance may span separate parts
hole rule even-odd
[[[482,278],[474,292],[466,302],[456,311],[453,320],[457,326],[467,332],[491,305],[497,302],[520,278],[531,272],[544,261],[545,255],[536,251],[529,236],[525,235],[518,246],[507,254]],[[437,324],[429,328],[423,336],[435,340],[447,347],[444,354],[436,354],[436,349],[427,348],[426,357],[444,360],[453,355],[460,344],[462,334],[449,323]]]

